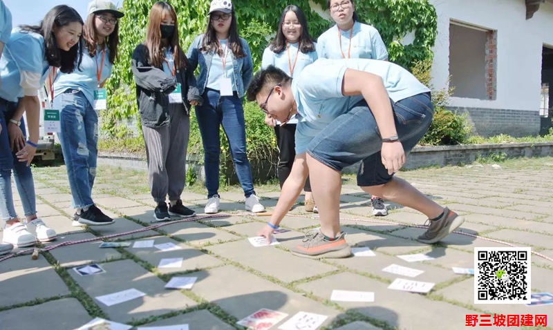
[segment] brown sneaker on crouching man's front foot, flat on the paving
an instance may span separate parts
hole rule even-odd
[[[298,257],[311,259],[347,258],[351,255],[351,248],[345,236],[346,233],[342,232],[335,240],[329,241],[319,229],[314,229],[306,233],[303,244],[294,246],[290,251]]]

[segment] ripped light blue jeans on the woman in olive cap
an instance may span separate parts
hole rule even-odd
[[[74,89],[55,97],[54,108],[61,110],[62,130],[58,136],[73,196],[71,203],[73,208],[91,206],[98,157],[98,115],[84,93]]]

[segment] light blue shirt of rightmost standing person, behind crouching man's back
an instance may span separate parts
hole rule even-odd
[[[338,37],[341,34],[341,50]],[[378,30],[367,24],[355,21],[353,23],[353,35],[350,40],[350,30],[342,31],[338,26],[326,30],[317,39],[317,55],[319,59],[343,59],[348,58],[350,49],[351,59],[388,59],[388,50],[382,41]],[[342,56],[344,52],[344,56]]]

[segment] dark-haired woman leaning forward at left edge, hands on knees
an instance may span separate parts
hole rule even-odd
[[[39,140],[38,90],[48,75],[55,74],[56,68],[70,73],[81,64],[82,26],[75,9],[55,6],[38,26],[14,30],[4,46],[0,59],[0,214],[6,222],[3,243],[30,246],[37,240],[49,242],[57,236],[37,218],[35,184],[29,165]],[[28,119],[28,139],[24,113]],[[12,169],[26,215],[25,224],[15,213]]]

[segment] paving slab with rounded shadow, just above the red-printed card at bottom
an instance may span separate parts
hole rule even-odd
[[[214,302],[238,320],[266,308],[288,313],[289,316],[299,311],[326,315],[325,326],[339,314],[335,309],[234,266],[191,273],[189,276],[198,277],[192,293]]]

